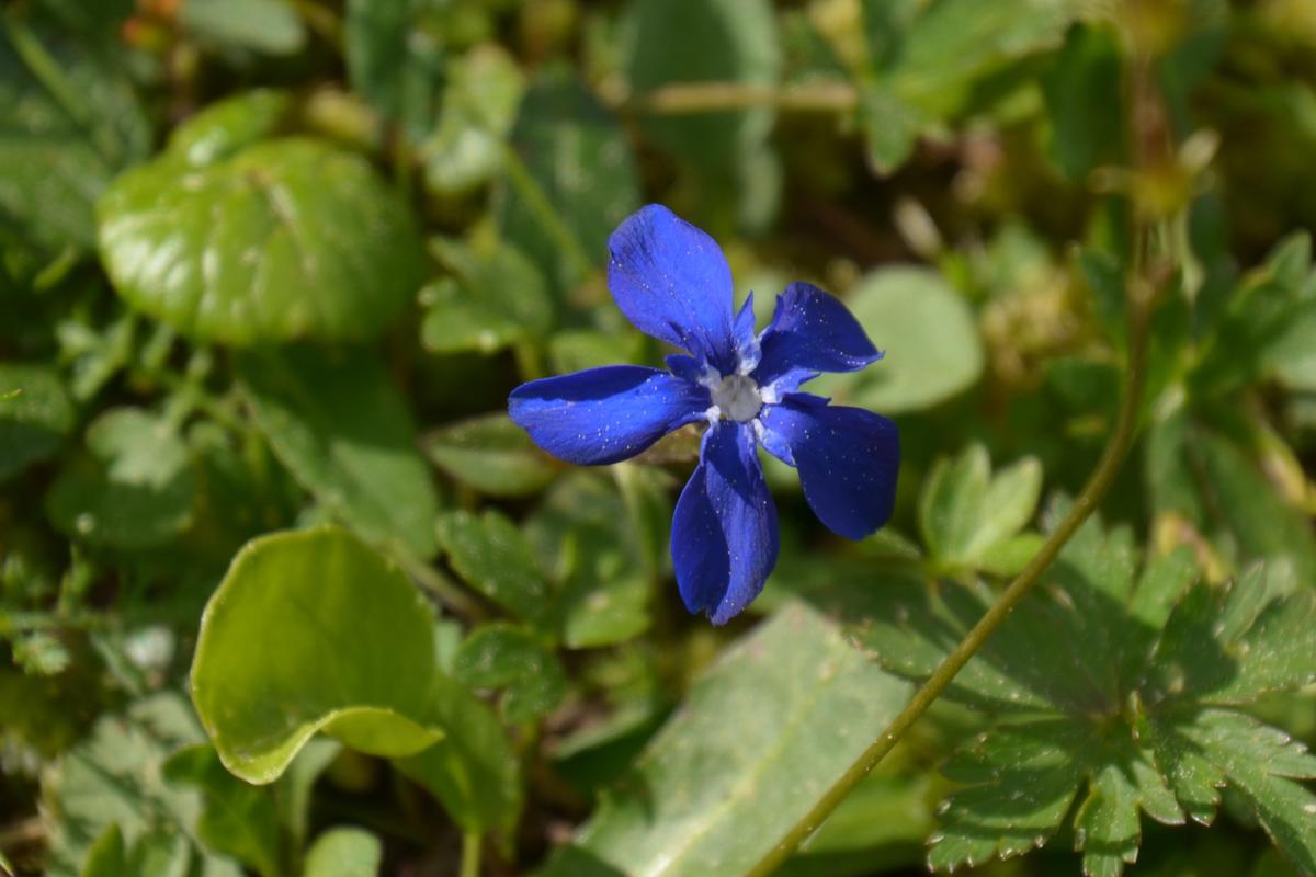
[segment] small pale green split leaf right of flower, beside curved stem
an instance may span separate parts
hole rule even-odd
[[[987,450],[973,444],[928,475],[919,525],[928,552],[950,568],[982,567],[1028,526],[1042,490],[1042,467],[1025,458],[992,476]]]

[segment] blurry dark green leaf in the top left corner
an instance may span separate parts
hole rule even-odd
[[[96,197],[150,149],[150,125],[120,59],[7,7],[0,107],[0,218],[46,250],[89,250]]]

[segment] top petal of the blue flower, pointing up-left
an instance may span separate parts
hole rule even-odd
[[[608,238],[608,287],[641,331],[734,371],[732,270],[717,243],[661,204]]]

